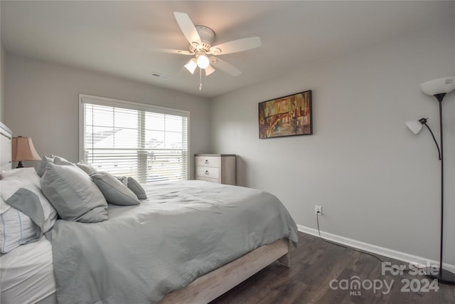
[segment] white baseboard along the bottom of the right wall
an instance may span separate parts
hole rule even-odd
[[[297,225],[297,228],[299,231],[304,232],[305,234],[311,234],[313,236],[318,236],[319,233],[317,229],[309,228],[306,226],[301,226]],[[346,246],[350,246],[353,248],[358,248],[363,251],[368,251],[370,253],[376,253],[381,256],[387,256],[389,258],[395,258],[396,260],[399,261],[404,261],[405,263],[413,263],[413,264],[419,264],[423,266],[427,266],[427,263],[430,265],[439,265],[439,261],[434,261],[430,260],[428,258],[422,258],[421,256],[413,256],[412,254],[409,253],[404,253],[400,251],[395,251],[389,248],[383,248],[380,246],[375,246],[370,243],[363,243],[361,241],[355,241],[353,239],[348,239],[343,236],[337,236],[336,234],[329,234],[327,232],[321,231],[321,237],[323,239],[327,239],[328,241],[333,241],[336,243],[341,243]],[[442,266],[444,269],[447,271],[451,271],[452,273],[455,273],[455,265],[451,265],[448,263],[442,263]]]

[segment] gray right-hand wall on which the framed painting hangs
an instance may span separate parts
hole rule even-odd
[[[438,105],[419,84],[455,75],[454,24],[289,71],[215,98],[213,152],[238,155],[240,185],[277,195],[297,224],[439,260]],[[258,103],[313,90],[314,135],[258,139]],[[455,264],[455,93],[444,100],[444,261]],[[304,246],[304,244],[303,244]]]

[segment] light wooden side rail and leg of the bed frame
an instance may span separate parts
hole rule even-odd
[[[209,303],[274,261],[279,261],[283,266],[289,267],[288,239],[280,239],[259,247],[237,260],[197,278],[185,288],[168,293],[160,303]]]

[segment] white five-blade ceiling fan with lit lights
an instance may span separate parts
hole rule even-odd
[[[186,63],[185,68],[191,74],[194,74],[196,68],[200,68],[200,78],[202,77],[202,70],[204,70],[205,75],[208,76],[215,72],[215,69],[221,70],[232,76],[240,75],[242,72],[238,68],[215,56],[247,51],[262,46],[259,37],[242,38],[213,46],[215,32],[211,28],[208,28],[207,26],[195,26],[186,13],[174,11],[173,15],[176,17],[178,26],[180,26],[186,40],[190,43],[188,51],[168,48],[159,48],[157,51],[194,56],[194,58],[191,58],[188,63]],[[201,89],[202,81],[199,86],[199,90]]]

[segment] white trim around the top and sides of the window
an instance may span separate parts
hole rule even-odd
[[[85,140],[85,111],[84,104],[105,105],[107,107],[124,108],[128,110],[139,110],[146,112],[155,112],[159,114],[176,115],[186,117],[186,179],[190,179],[190,112],[173,108],[160,107],[158,105],[149,105],[146,103],[136,103],[133,101],[105,98],[94,95],[79,94],[79,159],[84,159],[84,140]]]

